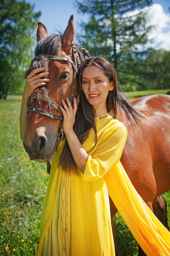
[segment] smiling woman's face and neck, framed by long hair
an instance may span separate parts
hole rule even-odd
[[[93,108],[96,116],[107,113],[106,99],[108,92],[114,89],[104,72],[97,66],[85,67],[82,73],[82,91]]]

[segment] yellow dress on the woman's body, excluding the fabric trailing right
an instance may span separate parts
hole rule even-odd
[[[98,120],[96,128],[97,144],[94,130],[83,144],[87,152],[91,150],[84,174],[70,175],[57,167],[64,141],[53,157],[38,256],[115,255],[104,175],[119,161],[127,132],[110,116]]]

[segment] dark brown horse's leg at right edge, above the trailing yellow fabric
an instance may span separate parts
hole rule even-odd
[[[153,200],[153,212],[160,222],[168,229],[166,201],[162,195],[157,196]]]

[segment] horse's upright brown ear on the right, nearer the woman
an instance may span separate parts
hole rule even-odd
[[[71,15],[68,21],[68,26],[64,31],[63,40],[62,40],[62,50],[66,53],[66,55],[71,55],[74,35],[75,35],[75,30],[73,25],[73,15]]]

